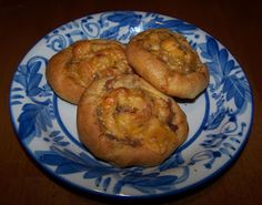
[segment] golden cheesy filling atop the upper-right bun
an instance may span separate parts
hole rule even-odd
[[[178,33],[167,30],[145,32],[139,41],[147,51],[164,62],[171,72],[187,74],[202,66],[196,52]]]

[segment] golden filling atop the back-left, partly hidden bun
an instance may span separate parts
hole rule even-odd
[[[121,44],[108,41],[80,41],[70,48],[69,76],[87,88],[93,80],[132,73]]]

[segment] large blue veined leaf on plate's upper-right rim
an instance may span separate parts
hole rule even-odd
[[[219,44],[213,38],[206,35],[206,43],[199,47],[201,55],[208,60],[210,74],[214,78],[211,91],[216,91],[222,86],[225,100],[233,99],[238,112],[244,110],[246,103],[251,102],[251,94],[241,68],[235,64],[235,61],[229,59],[229,52],[225,49],[219,49]]]

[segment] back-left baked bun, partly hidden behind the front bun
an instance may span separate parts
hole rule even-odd
[[[47,81],[63,100],[78,104],[85,88],[105,76],[132,73],[123,44],[113,40],[81,40],[54,54]]]

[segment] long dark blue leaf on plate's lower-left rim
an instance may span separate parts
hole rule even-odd
[[[101,163],[83,152],[77,155],[68,148],[60,150],[54,145],[50,146],[50,151],[37,151],[34,154],[41,163],[56,166],[56,174],[82,172],[83,178],[94,180],[97,186],[102,184],[104,191],[111,181],[111,176],[108,175],[121,172],[120,168]]]

